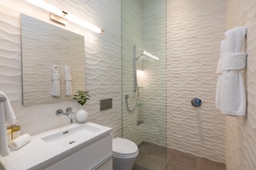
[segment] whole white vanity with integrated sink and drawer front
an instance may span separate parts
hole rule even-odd
[[[30,143],[0,156],[1,170],[112,170],[112,128],[73,123],[32,136]]]

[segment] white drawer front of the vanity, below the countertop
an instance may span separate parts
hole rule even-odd
[[[45,170],[112,170],[112,136],[90,144]]]

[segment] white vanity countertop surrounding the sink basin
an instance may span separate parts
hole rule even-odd
[[[110,127],[104,127],[92,122],[85,122],[84,124],[90,125],[92,127],[99,127],[101,130],[90,134],[89,136],[85,136],[84,138],[76,141],[74,144],[67,145],[66,147],[55,147],[55,145],[50,145],[44,142],[42,138],[54,133],[61,133],[73,127],[79,127],[83,124],[73,123],[64,127],[55,128],[44,133],[38,133],[32,136],[30,143],[26,144],[19,150],[11,150],[9,156],[0,156],[0,169],[32,170],[44,168],[44,166],[47,166],[51,162],[61,159],[63,156],[73,154],[73,152],[78,150],[80,147],[86,147],[97,141],[97,139],[102,139],[112,131]]]

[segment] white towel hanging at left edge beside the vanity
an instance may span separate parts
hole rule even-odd
[[[9,156],[6,123],[15,122],[15,111],[6,94],[0,91],[0,156]],[[4,98],[4,99],[3,99]]]

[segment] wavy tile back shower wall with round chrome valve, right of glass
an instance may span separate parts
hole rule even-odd
[[[167,1],[168,147],[224,162],[225,120],[215,109],[223,1]],[[190,100],[202,99],[194,108]]]

